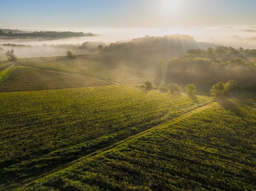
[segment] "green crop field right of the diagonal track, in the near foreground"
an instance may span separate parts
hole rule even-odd
[[[26,190],[255,190],[255,108],[255,99],[212,104]]]

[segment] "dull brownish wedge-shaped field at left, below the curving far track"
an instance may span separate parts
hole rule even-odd
[[[110,82],[93,77],[17,66],[12,69],[11,75],[0,82],[0,92],[93,87],[110,84]]]

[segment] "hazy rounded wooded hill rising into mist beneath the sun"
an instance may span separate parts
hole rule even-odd
[[[207,43],[198,43],[189,35],[165,35],[164,37],[136,38],[129,42],[111,43],[100,47],[99,58],[112,65],[120,62],[136,67],[152,67],[159,60],[167,60],[181,56],[190,49],[206,49],[216,46]]]

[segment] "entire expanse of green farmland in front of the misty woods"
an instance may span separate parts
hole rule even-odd
[[[92,56],[2,62],[0,190],[255,190],[254,92],[131,86],[149,79]]]

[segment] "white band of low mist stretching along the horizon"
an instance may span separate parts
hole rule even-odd
[[[27,29],[34,31],[35,29]],[[65,31],[65,29],[47,29],[47,31]],[[232,46],[235,48],[256,49],[256,28],[254,27],[192,27],[192,28],[79,28],[71,29],[74,32],[92,32],[94,37],[65,38],[58,40],[42,39],[0,39],[0,47],[5,51],[14,49],[16,56],[22,57],[47,57],[64,56],[70,49],[77,54],[93,53],[92,51],[77,51],[76,47],[84,42],[104,42],[106,44],[117,41],[129,41],[134,38],[149,36],[164,36],[172,34],[185,34],[194,37],[197,42]],[[30,47],[8,47],[3,44],[29,45]],[[101,43],[98,43],[101,44]],[[62,45],[58,47],[55,45]],[[66,47],[64,47],[66,45]],[[76,46],[76,47],[75,47]],[[75,47],[75,48],[74,48]],[[0,56],[3,53],[0,53]],[[2,56],[3,57],[3,56]]]

